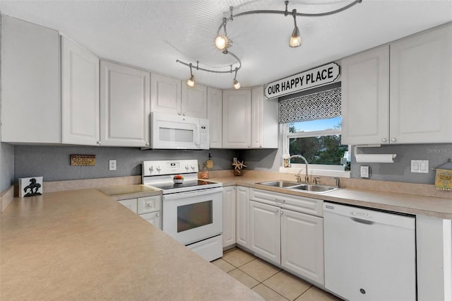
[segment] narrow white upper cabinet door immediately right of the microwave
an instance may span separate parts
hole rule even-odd
[[[209,119],[209,147],[222,147],[222,91],[207,88],[207,119]]]

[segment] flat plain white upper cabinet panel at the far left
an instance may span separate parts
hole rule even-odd
[[[61,143],[59,33],[1,16],[1,141]]]

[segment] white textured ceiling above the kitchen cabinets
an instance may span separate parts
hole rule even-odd
[[[292,0],[289,10],[319,13],[352,0]],[[283,11],[284,1],[0,1],[0,11],[59,30],[98,57],[176,78],[189,67],[176,59],[219,69],[234,63],[215,48],[229,7]],[[230,51],[242,60],[237,80],[261,85],[364,49],[452,21],[452,0],[362,0],[331,16],[298,17],[302,46],[288,47],[291,16],[247,15],[227,23]],[[198,83],[231,88],[233,74],[194,70]]]

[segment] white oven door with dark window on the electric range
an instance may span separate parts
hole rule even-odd
[[[162,230],[182,244],[222,233],[222,187],[162,197]]]

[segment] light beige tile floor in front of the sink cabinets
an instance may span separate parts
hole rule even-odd
[[[340,300],[242,249],[227,250],[222,258],[212,261],[212,263],[254,290],[267,301]]]

